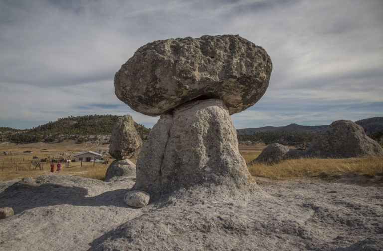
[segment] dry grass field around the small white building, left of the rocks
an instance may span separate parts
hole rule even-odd
[[[33,144],[0,144],[0,180],[34,177],[50,172],[51,162],[40,162],[41,159],[73,159],[73,155],[84,151],[108,150],[109,145],[95,145],[92,143],[76,144],[73,140],[64,140],[60,143],[33,143]],[[4,155],[6,152],[7,155]],[[37,157],[37,159],[33,159]],[[105,157],[104,157],[105,158]],[[108,164],[83,162],[61,163],[61,171],[55,175],[74,175],[103,180],[105,172],[113,159],[108,159]],[[40,163],[35,166],[34,163]],[[55,163],[57,169],[57,163]]]

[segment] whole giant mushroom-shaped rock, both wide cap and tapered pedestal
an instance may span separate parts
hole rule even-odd
[[[135,189],[151,196],[197,184],[254,184],[230,114],[268,87],[266,51],[236,35],[159,40],[139,48],[115,75],[115,93],[156,116],[137,159]]]

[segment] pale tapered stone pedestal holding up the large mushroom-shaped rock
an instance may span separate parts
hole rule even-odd
[[[203,183],[252,182],[226,106],[209,99],[188,102],[160,118],[138,156],[135,189],[153,196]]]

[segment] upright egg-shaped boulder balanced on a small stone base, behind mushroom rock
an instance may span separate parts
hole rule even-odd
[[[119,118],[113,127],[109,146],[110,155],[117,159],[128,159],[137,156],[142,146],[142,140],[134,127],[130,115]]]

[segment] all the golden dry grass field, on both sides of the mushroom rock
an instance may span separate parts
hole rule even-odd
[[[239,150],[246,163],[249,164],[259,156],[266,147],[264,144],[258,145],[239,145]],[[32,163],[33,156],[37,160],[60,159],[73,156],[75,153],[92,150],[108,150],[109,145],[95,145],[92,143],[76,144],[72,140],[65,140],[60,143],[33,143],[20,144],[1,143],[0,144],[0,180],[11,180],[23,177],[33,177],[50,173],[50,162],[40,163],[40,167],[35,167]],[[6,152],[8,155],[3,155]],[[109,164],[113,159],[109,159]],[[133,162],[135,162],[133,160]],[[69,167],[62,163],[61,172],[55,175],[75,175],[103,180],[105,172],[109,166],[103,163],[81,163],[71,162]],[[375,176],[374,184],[383,185],[383,158],[348,158],[348,159],[319,159],[302,158],[285,160],[277,164],[252,164],[248,165],[249,171],[253,176],[264,177],[273,180],[286,180],[295,178],[315,178],[315,179],[339,179],[343,176],[362,177],[364,182]],[[378,178],[376,178],[378,177]],[[365,179],[363,179],[365,178]]]

